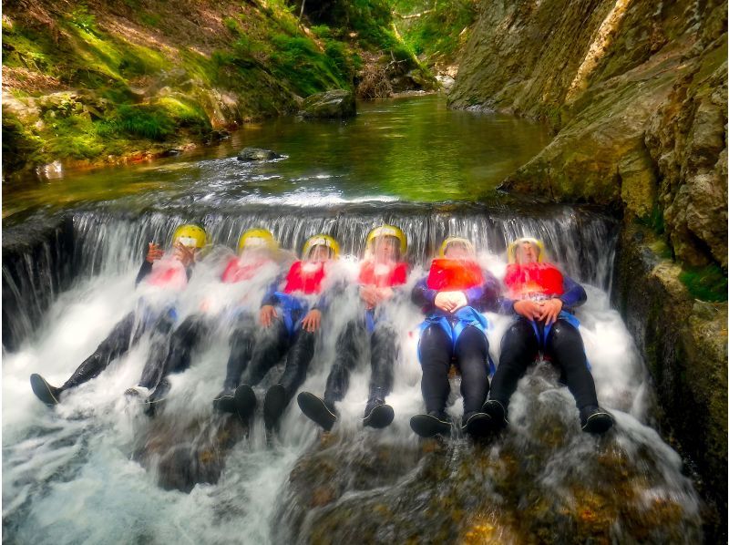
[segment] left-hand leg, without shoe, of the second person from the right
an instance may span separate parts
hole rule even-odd
[[[443,329],[432,324],[420,335],[420,365],[423,379],[420,383],[428,414],[444,416],[450,384],[448,370],[452,358],[452,341]]]

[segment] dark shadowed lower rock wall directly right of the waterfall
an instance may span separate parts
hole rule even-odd
[[[693,300],[681,266],[661,257],[656,235],[631,224],[621,235],[613,300],[651,372],[659,420],[698,466],[704,498],[726,513],[726,303]],[[700,416],[700,417],[697,417]],[[719,484],[721,483],[721,485]],[[720,528],[716,539],[724,542]]]

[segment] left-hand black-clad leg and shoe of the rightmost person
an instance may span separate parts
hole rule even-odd
[[[498,426],[506,425],[508,401],[538,352],[539,341],[531,323],[526,318],[519,318],[501,339],[498,368],[491,379],[488,401],[482,407]]]

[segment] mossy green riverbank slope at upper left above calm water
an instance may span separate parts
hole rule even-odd
[[[433,88],[385,7],[330,27],[278,1],[5,6],[4,179],[164,157],[368,76]]]

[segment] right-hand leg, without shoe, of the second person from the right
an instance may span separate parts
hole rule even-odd
[[[456,361],[461,371],[463,421],[481,410],[488,395],[488,340],[468,325],[456,343]]]

